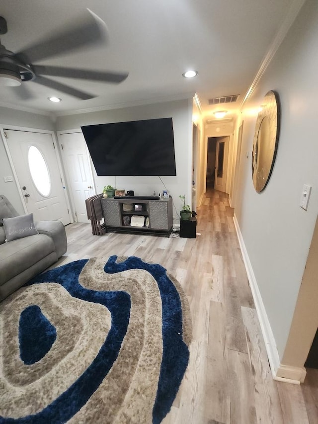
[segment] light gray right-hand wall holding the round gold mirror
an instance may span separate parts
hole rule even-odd
[[[317,22],[318,2],[308,0],[242,114],[235,213],[280,359],[318,213]],[[281,131],[271,179],[257,194],[245,152],[252,150],[257,107],[271,89],[280,97]],[[299,205],[304,183],[313,186],[307,211]]]

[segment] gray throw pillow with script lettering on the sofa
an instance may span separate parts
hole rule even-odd
[[[3,218],[2,223],[6,242],[38,234],[38,230],[34,226],[32,213],[13,218]]]

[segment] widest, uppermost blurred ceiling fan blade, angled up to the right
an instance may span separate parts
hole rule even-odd
[[[70,53],[76,49],[91,44],[105,43],[107,28],[105,22],[95,13],[87,9],[88,13],[81,16],[76,23],[70,23],[68,29],[57,30],[57,35],[50,36],[37,44],[16,53],[16,57],[26,63],[53,57],[63,53]]]

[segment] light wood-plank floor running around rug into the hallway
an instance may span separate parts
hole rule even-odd
[[[66,227],[68,253],[57,265],[92,256],[136,255],[158,262],[182,284],[193,341],[180,390],[163,424],[318,423],[318,370],[303,385],[272,379],[228,195],[211,190],[197,210],[197,237],[93,236]]]

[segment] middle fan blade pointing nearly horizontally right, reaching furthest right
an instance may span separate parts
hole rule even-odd
[[[36,75],[49,75],[51,77],[77,78],[82,80],[104,81],[106,83],[121,83],[126,80],[128,73],[91,71],[89,69],[63,68],[60,66],[33,65]]]

